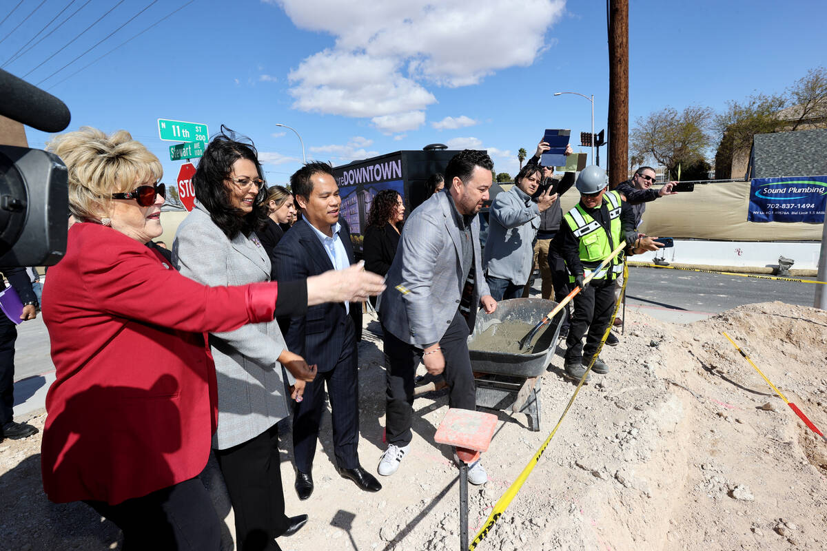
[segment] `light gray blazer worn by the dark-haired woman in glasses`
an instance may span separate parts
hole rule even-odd
[[[270,280],[270,259],[258,238],[239,233],[228,240],[199,202],[178,226],[172,261],[180,273],[213,287]],[[288,415],[277,361],[284,338],[278,323],[268,321],[211,333],[209,344],[218,378],[213,448],[226,449],[261,435]],[[289,373],[288,378],[292,384]]]

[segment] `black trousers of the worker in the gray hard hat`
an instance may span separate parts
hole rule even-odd
[[[614,280],[592,279],[574,297],[574,312],[566,338],[566,363],[591,360],[614,311]],[[588,333],[586,331],[588,330]],[[586,346],[583,346],[586,335]]]

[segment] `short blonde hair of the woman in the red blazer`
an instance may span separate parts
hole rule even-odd
[[[69,211],[79,220],[98,220],[109,211],[112,193],[131,192],[164,174],[160,161],[121,130],[106,135],[91,126],[55,136],[46,149],[69,169]]]

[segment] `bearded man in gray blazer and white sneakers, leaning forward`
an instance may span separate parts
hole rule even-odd
[[[421,359],[428,373],[443,373],[451,407],[476,410],[476,387],[466,342],[481,304],[497,308],[482,276],[480,221],[494,164],[484,151],[454,155],[445,189],[409,216],[378,303],[390,366],[385,408],[388,449],[379,473],[390,476],[410,448],[414,374]],[[479,462],[469,480],[487,481]]]

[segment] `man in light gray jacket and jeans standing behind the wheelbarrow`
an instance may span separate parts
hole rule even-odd
[[[540,213],[557,201],[557,193],[547,188],[534,202],[532,197],[543,180],[543,169],[527,164],[520,169],[516,184],[500,193],[488,216],[485,241],[485,283],[495,300],[519,298],[531,275],[532,243],[540,227]]]

